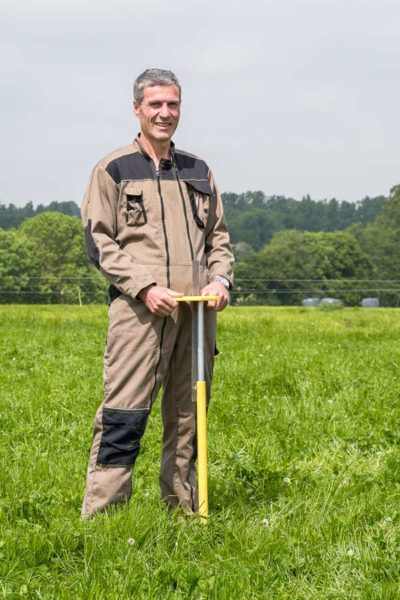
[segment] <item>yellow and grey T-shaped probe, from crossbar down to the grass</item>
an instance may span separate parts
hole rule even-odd
[[[197,404],[197,485],[199,491],[199,515],[202,523],[208,518],[208,476],[207,476],[207,393],[204,376],[204,302],[215,302],[218,296],[182,296],[177,302],[194,302],[195,326],[197,329],[196,363],[196,404]]]

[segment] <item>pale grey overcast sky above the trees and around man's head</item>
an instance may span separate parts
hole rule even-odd
[[[176,145],[221,191],[400,183],[399,0],[1,0],[0,61],[3,203],[80,203],[135,137],[132,80],[154,66],[182,83]]]

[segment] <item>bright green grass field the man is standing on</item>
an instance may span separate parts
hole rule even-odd
[[[399,311],[221,315],[208,527],[159,501],[158,404],[131,504],[81,521],[107,310],[0,319],[0,597],[400,597]]]

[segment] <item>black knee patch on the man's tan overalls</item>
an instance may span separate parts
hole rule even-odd
[[[133,466],[140,450],[140,439],[146,428],[148,409],[103,410],[98,465]]]

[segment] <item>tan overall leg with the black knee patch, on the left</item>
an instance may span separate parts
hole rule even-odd
[[[110,305],[104,402],[94,424],[82,516],[131,496],[131,472],[161,383],[166,319],[126,296]]]

